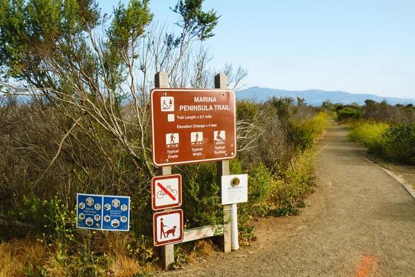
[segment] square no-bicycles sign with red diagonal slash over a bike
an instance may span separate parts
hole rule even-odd
[[[154,211],[182,204],[181,175],[163,175],[151,179],[151,208]]]

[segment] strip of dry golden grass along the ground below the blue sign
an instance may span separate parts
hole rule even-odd
[[[136,256],[128,256],[125,250],[131,242],[131,236],[124,235],[118,240],[118,255],[116,254],[116,235],[106,235],[100,242],[107,242],[102,247],[98,260],[84,262],[83,258],[91,258],[91,254],[73,255],[62,253],[48,248],[44,242],[35,238],[24,238],[0,244],[0,277],[35,276],[40,274],[37,266],[42,267],[43,274],[47,276],[78,276],[95,272],[98,276],[135,276],[138,273],[154,271],[151,262],[142,266]],[[95,252],[96,253],[96,252]],[[88,273],[87,273],[88,272]],[[93,276],[95,276],[93,274]]]

